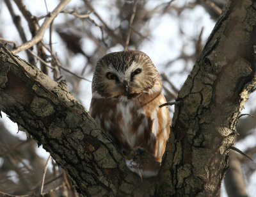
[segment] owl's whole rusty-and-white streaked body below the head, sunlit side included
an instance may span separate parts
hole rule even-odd
[[[159,160],[170,132],[170,116],[163,94],[147,103],[142,98],[103,99],[94,94],[90,114],[122,150],[144,148]],[[125,101],[123,101],[125,100]],[[141,100],[147,104],[141,104]]]

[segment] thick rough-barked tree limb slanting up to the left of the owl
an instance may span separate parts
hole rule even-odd
[[[0,49],[0,109],[43,145],[86,196],[154,194],[154,178],[126,168],[122,155],[83,106],[38,68]],[[148,185],[152,189],[148,191]]]

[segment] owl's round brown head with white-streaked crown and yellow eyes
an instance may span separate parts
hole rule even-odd
[[[161,79],[151,59],[141,51],[111,52],[99,59],[93,74],[92,91],[104,98],[158,93]]]

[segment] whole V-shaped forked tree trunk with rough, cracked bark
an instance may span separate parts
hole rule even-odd
[[[181,88],[158,177],[141,182],[67,91],[1,47],[0,109],[50,152],[86,196],[216,196],[237,117],[255,81],[256,6],[232,1]]]

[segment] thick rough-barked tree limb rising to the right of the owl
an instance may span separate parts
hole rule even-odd
[[[161,188],[169,196],[218,195],[239,113],[256,84],[255,17],[255,1],[228,1],[179,91]]]

